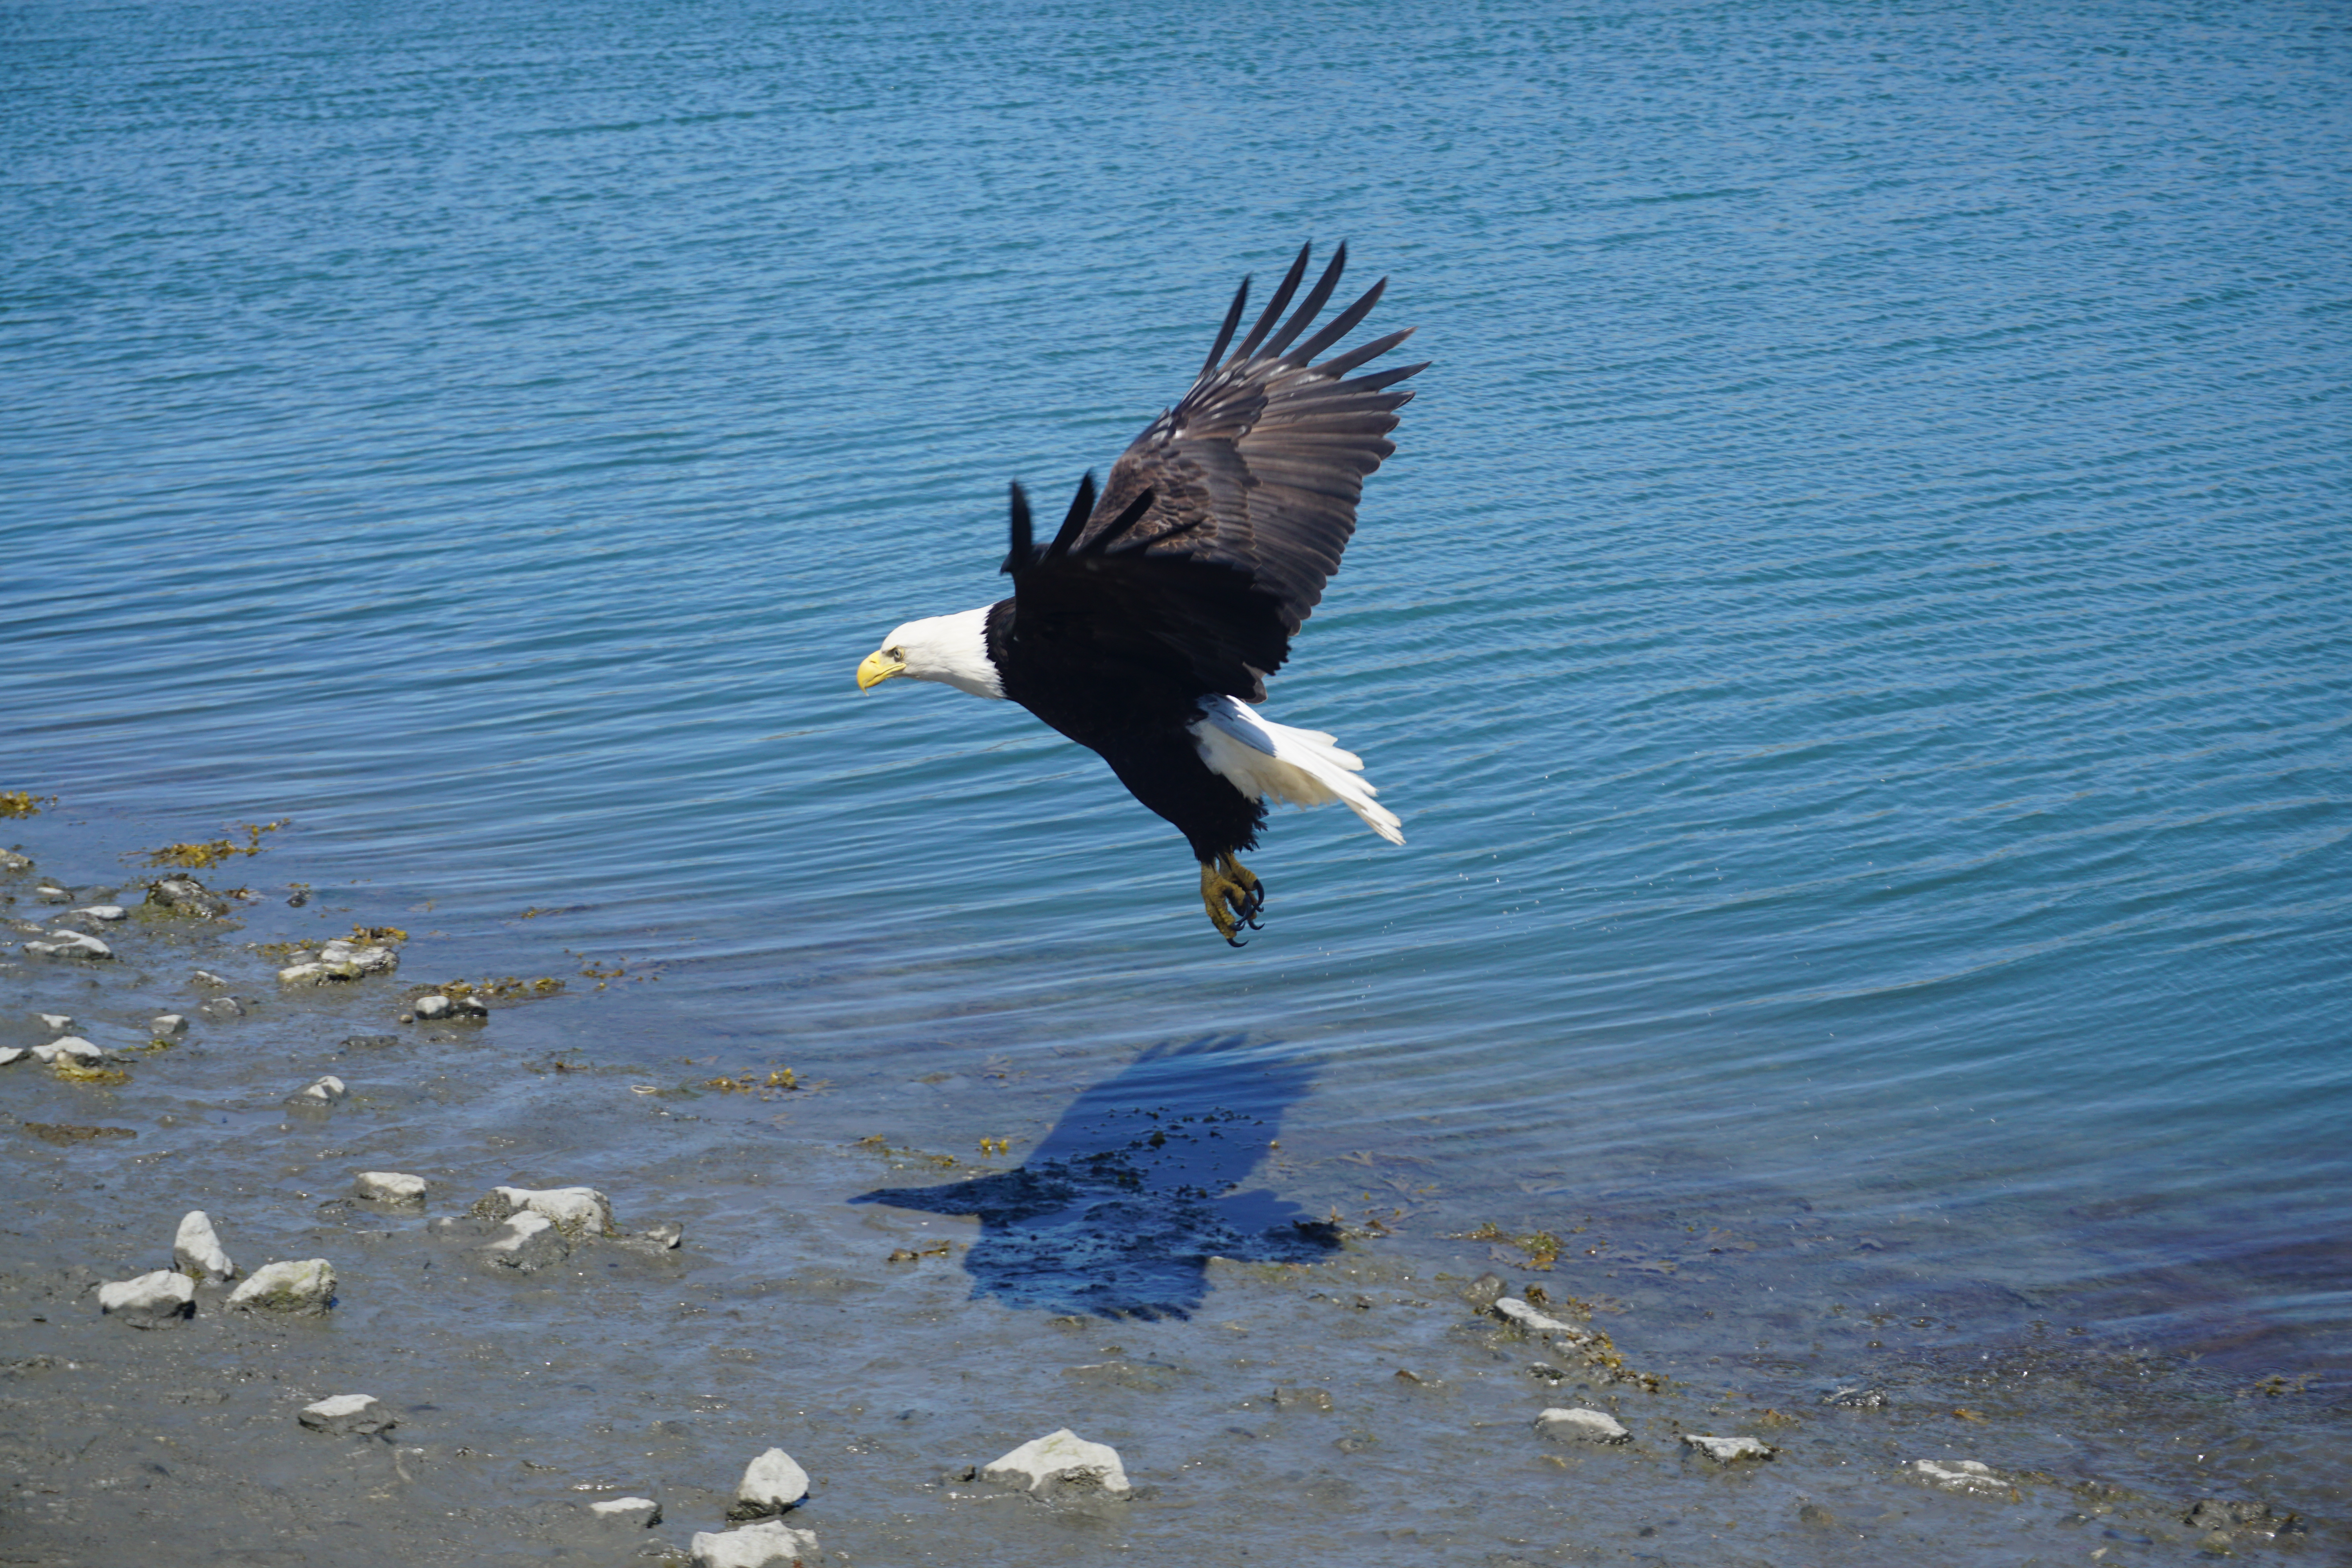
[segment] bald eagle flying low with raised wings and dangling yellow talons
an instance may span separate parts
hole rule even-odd
[[[1371,313],[1388,280],[1308,334],[1331,301],[1341,244],[1298,310],[1301,247],[1242,346],[1242,280],[1190,390],[1110,465],[1089,473],[1054,541],[1030,534],[1011,487],[1014,597],[908,621],[858,665],[858,689],[894,675],[1011,698],[1094,748],[1127,790],[1183,832],[1209,922],[1240,947],[1265,884],[1235,856],[1256,849],[1265,802],[1341,802],[1390,844],[1397,813],[1331,736],[1261,717],[1265,677],[1338,571],[1364,475],[1395,444],[1390,390],[1425,364],[1355,371],[1411,336],[1392,331],[1315,364]]]

